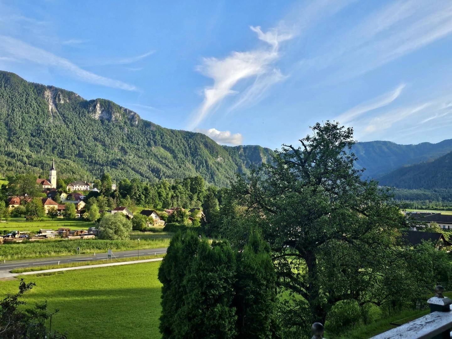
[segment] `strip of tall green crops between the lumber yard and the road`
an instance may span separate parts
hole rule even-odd
[[[77,247],[80,253],[106,252],[108,249],[116,251],[167,247],[170,244],[170,236],[160,236],[153,239],[138,240],[39,240],[22,243],[5,243],[0,245],[0,260],[43,258],[56,255],[76,254]]]

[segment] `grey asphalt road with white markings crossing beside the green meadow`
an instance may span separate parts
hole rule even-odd
[[[166,247],[155,248],[155,249],[147,249],[147,250],[139,250],[139,255],[154,255],[154,254],[164,254],[166,253]],[[113,251],[113,259],[116,258],[137,258],[138,250],[132,251],[122,251],[115,252]],[[58,262],[60,264],[65,263],[74,263],[80,261],[93,261],[93,260],[102,260],[107,259],[107,252],[96,252],[92,254],[77,254],[77,255],[65,255],[61,257],[52,257],[52,258],[41,258],[41,259],[22,259],[22,260],[6,260],[6,262],[0,262],[0,270],[11,270],[14,268],[25,268],[25,267],[34,267],[34,266],[42,266],[42,265],[56,265]],[[106,262],[106,260],[105,260]]]

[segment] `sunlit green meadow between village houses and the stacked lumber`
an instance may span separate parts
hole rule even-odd
[[[11,217],[7,222],[0,222],[0,230],[7,231],[29,231],[36,233],[39,229],[53,229],[59,227],[68,227],[73,230],[87,230],[89,227],[94,227],[94,223],[90,221],[68,221],[61,218],[52,220],[49,217],[42,218],[42,221],[25,221],[24,217]]]

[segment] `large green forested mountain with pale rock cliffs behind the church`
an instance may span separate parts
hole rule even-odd
[[[106,99],[27,82],[0,71],[0,175],[59,174],[116,181],[201,175],[225,186],[236,171],[271,160],[260,146],[221,146],[202,133],[160,127]]]

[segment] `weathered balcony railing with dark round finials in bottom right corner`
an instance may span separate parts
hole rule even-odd
[[[416,320],[378,334],[371,339],[451,339],[452,300],[443,296],[444,288],[437,286],[436,295],[428,299],[430,313]],[[312,339],[323,338],[323,325],[312,325]]]

